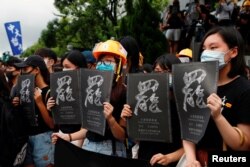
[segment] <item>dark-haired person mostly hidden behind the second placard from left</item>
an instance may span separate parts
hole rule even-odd
[[[63,67],[63,71],[68,70],[77,70],[79,68],[87,68],[87,61],[84,56],[82,56],[82,53],[78,50],[71,50],[67,53],[65,53],[61,59],[61,66]],[[51,111],[51,108],[55,105],[55,99],[53,97],[50,97],[47,102],[47,109]],[[59,133],[62,134],[69,134],[77,132],[81,129],[81,125],[75,124],[75,125],[69,125],[69,124],[60,124],[58,125]],[[75,140],[72,141],[74,145],[78,147],[82,147],[83,140]]]

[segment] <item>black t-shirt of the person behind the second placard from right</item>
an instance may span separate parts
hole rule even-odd
[[[176,104],[174,99],[170,100],[170,110],[171,110],[171,126],[172,126],[172,143],[164,142],[152,142],[152,141],[140,141],[139,147],[139,159],[150,160],[154,154],[162,153],[168,154],[172,153],[182,147],[181,133],[180,133],[180,123],[179,117],[176,109]],[[176,166],[177,163],[169,164],[169,166]]]

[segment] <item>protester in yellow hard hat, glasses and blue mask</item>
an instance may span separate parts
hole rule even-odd
[[[110,102],[103,103],[103,113],[107,121],[104,136],[82,128],[80,131],[61,135],[52,135],[53,143],[58,137],[70,141],[84,139],[83,149],[105,155],[126,157],[124,145],[125,131],[120,125],[120,114],[126,102],[126,87],[123,84],[122,67],[126,64],[127,52],[122,45],[114,40],[98,43],[93,49],[97,60],[96,69],[100,71],[113,71],[113,85]]]

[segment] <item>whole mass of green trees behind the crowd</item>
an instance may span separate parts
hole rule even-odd
[[[71,44],[79,50],[92,49],[97,42],[111,37],[133,36],[140,46],[144,62],[152,63],[167,51],[167,42],[159,31],[160,11],[168,0],[55,0],[57,19],[51,20],[37,43],[22,57],[37,48],[52,48],[59,56]]]

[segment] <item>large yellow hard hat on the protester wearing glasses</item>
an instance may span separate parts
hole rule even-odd
[[[107,40],[96,44],[93,49],[94,57],[98,60],[100,55],[103,54],[111,54],[119,59],[121,58],[122,65],[125,65],[127,62],[127,51],[118,41]]]

